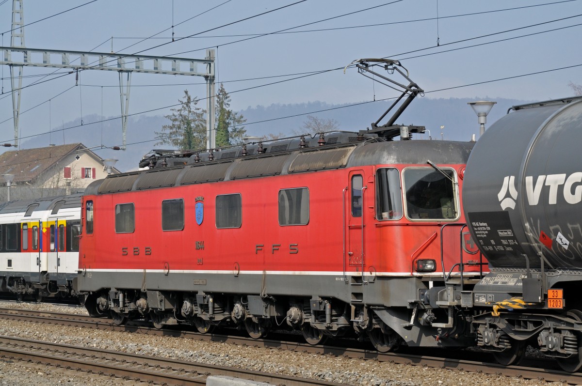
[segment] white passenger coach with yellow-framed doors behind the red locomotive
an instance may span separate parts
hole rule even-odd
[[[0,292],[76,299],[81,195],[0,205]]]

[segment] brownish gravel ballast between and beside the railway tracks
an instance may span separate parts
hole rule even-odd
[[[87,314],[83,308],[56,306],[48,303],[0,302],[0,307]],[[540,380],[524,380],[491,374],[467,373],[459,370],[433,369],[424,366],[382,363],[374,360],[306,354],[221,342],[159,337],[120,331],[90,330],[87,328],[12,320],[2,320],[0,323],[0,335],[188,360],[217,366],[238,367],[295,377],[317,378],[350,385],[566,385],[562,383],[547,383]],[[0,385],[67,384],[86,386],[90,384],[92,386],[101,386],[124,384],[119,379],[111,380],[108,377],[97,376],[96,374],[77,373],[76,371],[53,367],[50,369],[37,369],[35,366],[37,365],[0,359]],[[128,382],[130,383],[127,384],[135,384],[131,381]]]

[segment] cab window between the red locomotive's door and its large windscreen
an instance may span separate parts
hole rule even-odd
[[[397,220],[402,218],[402,193],[398,169],[385,168],[376,171],[376,218]]]

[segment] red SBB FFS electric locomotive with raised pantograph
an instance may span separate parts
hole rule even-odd
[[[422,92],[405,88],[404,106]],[[254,338],[286,324],[311,344],[356,333],[379,351],[473,345],[454,298],[484,264],[460,208],[473,142],[410,141],[424,128],[393,125],[402,109],[364,133],[160,153],[150,170],[95,181],[79,256],[87,309]]]

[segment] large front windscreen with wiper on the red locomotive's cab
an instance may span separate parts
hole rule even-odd
[[[406,215],[409,219],[453,220],[458,213],[451,169],[441,169],[447,176],[428,167],[404,169]]]

